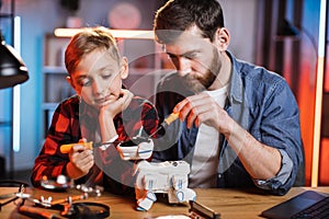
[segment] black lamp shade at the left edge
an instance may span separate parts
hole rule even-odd
[[[0,37],[0,89],[5,89],[25,82],[29,73],[20,55]]]

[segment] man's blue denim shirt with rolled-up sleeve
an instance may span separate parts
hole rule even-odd
[[[232,69],[225,111],[260,142],[277,148],[282,165],[277,175],[266,181],[251,178],[224,136],[219,138],[217,187],[252,187],[283,195],[293,186],[303,161],[299,110],[286,81],[279,74],[236,59],[229,51]],[[192,95],[181,85],[175,72],[157,87],[156,107],[163,120],[174,105]],[[155,140],[154,161],[193,159],[197,128],[175,120]]]

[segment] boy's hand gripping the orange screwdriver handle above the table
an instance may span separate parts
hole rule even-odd
[[[81,139],[79,142],[87,142]],[[94,164],[92,150],[86,149],[83,145],[75,145],[69,152],[70,162],[67,164],[67,173],[70,178],[79,178],[86,175]]]

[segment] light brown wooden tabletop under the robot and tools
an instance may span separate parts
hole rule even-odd
[[[254,192],[252,189],[223,189],[223,188],[208,188],[208,189],[194,189],[197,194],[196,201],[209,207],[211,209],[220,212],[220,218],[261,218],[260,214],[281,201],[303,193],[306,189],[314,189],[318,192],[329,193],[329,187],[293,187],[284,196],[273,196],[266,193]],[[18,192],[13,187],[0,187],[0,195]],[[45,198],[52,196],[53,199],[65,198],[68,193],[53,193],[48,191],[41,191],[36,188],[29,188],[27,194],[35,198],[43,195]],[[159,197],[160,196],[160,197]],[[4,199],[0,199],[3,203]],[[86,201],[95,201],[106,204],[111,208],[110,218],[154,218],[158,216],[168,215],[189,215],[189,206],[186,205],[169,205],[167,204],[163,195],[158,194],[158,200],[152,205],[149,211],[135,210],[135,198],[125,198],[115,196],[109,193],[103,193],[101,197],[90,197]],[[25,205],[32,205],[26,201]],[[49,209],[44,209],[49,210]],[[56,211],[58,212],[58,211]],[[30,218],[18,212],[16,206],[11,203],[2,207],[0,218]]]

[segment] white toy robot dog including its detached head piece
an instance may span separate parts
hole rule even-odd
[[[136,139],[133,139],[136,143]],[[149,210],[157,200],[157,193],[168,194],[170,204],[195,200],[196,194],[188,188],[190,164],[185,161],[148,162],[154,150],[151,139],[137,139],[137,146],[125,143],[117,146],[123,160],[141,160],[135,168],[135,192],[137,210]],[[129,145],[129,143],[128,143]]]

